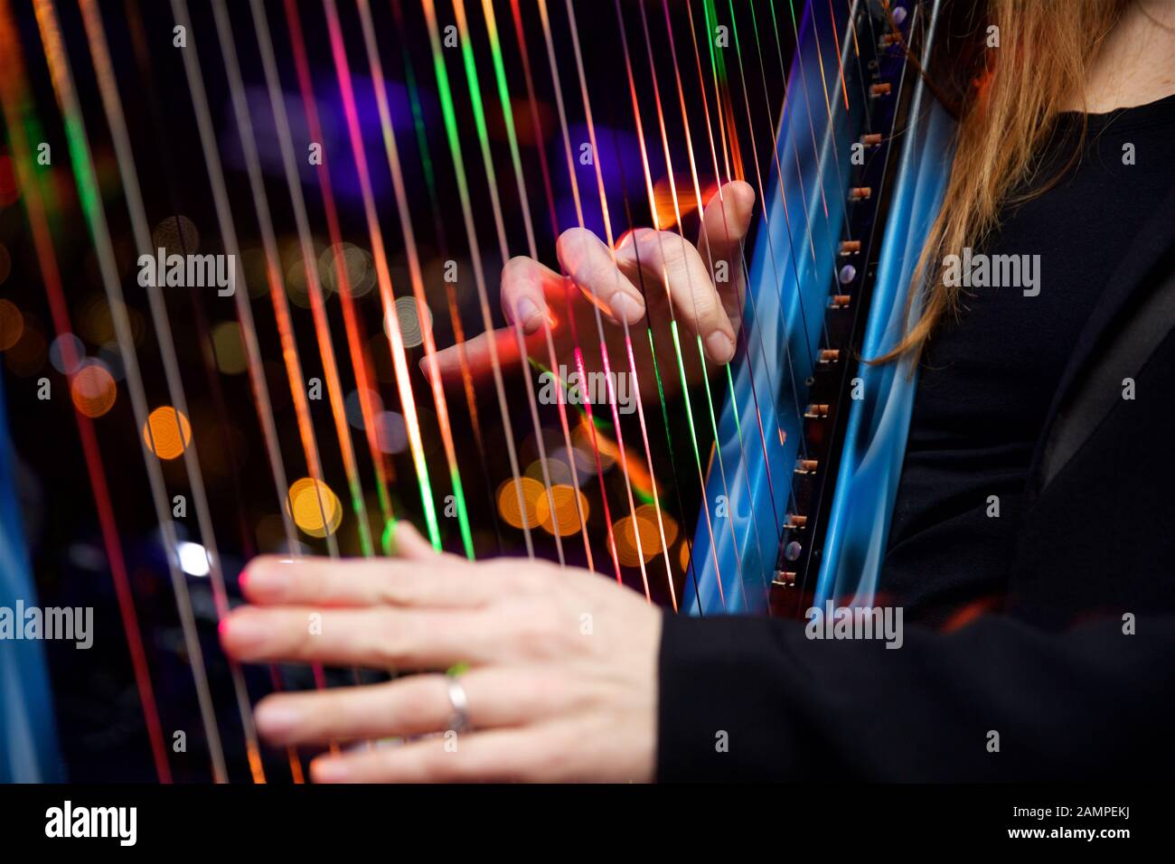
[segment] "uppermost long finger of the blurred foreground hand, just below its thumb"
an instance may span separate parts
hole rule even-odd
[[[431,549],[429,550],[431,552]],[[257,605],[476,608],[512,585],[472,577],[458,558],[432,552],[432,567],[389,558],[254,558],[241,589]]]

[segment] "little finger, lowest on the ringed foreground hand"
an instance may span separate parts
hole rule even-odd
[[[501,729],[429,738],[375,750],[321,756],[315,783],[472,783],[558,778],[556,744],[542,729]],[[456,746],[454,746],[456,744]],[[544,771],[544,763],[550,768]],[[549,776],[550,775],[550,776]]]

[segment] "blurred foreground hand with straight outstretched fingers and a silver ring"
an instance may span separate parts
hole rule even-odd
[[[660,612],[586,570],[517,558],[439,555],[405,522],[397,558],[257,558],[241,578],[251,605],[221,627],[243,662],[443,670],[382,684],[275,694],[256,722],[273,744],[402,743],[324,754],[331,782],[653,778]],[[428,736],[428,737],[419,737]]]

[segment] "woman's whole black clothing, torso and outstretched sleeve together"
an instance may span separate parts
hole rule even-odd
[[[1175,770],[1175,98],[1092,127],[987,247],[1040,254],[1039,296],[976,289],[931,348],[882,574],[931,621],[1000,608],[907,616],[898,650],[667,614],[660,779]]]

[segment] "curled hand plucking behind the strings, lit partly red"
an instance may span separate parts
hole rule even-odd
[[[658,351],[669,351],[660,362],[672,367],[670,322],[677,319],[683,360],[691,381],[701,373],[698,351],[690,339],[701,337],[709,360],[726,363],[734,356],[743,304],[743,240],[751,225],[754,190],[741,181],[726,183],[705,207],[697,246],[680,234],[640,228],[625,234],[613,253],[595,234],[572,228],[559,236],[556,252],[568,275],[530,257],[513,257],[502,270],[502,312],[511,327],[481,334],[464,344],[436,355],[445,381],[459,381],[462,355],[475,379],[492,369],[490,341],[504,367],[519,359],[521,328],[529,356],[546,364],[550,353],[544,317],[551,324],[556,361],[573,366],[577,341],[588,369],[603,369],[596,307],[605,320],[604,339],[611,367],[626,368],[624,330],[632,330],[636,361],[647,363],[649,341],[643,330],[651,323]],[[711,275],[714,279],[711,279]],[[716,281],[717,280],[717,281]],[[640,287],[644,287],[644,292]],[[646,308],[645,297],[649,300]],[[671,314],[672,313],[672,314]],[[573,319],[572,322],[569,319]],[[577,339],[578,336],[578,339]],[[421,368],[428,370],[427,359]],[[663,375],[667,390],[676,390],[678,376]],[[642,375],[643,395],[656,396],[652,375]]]

